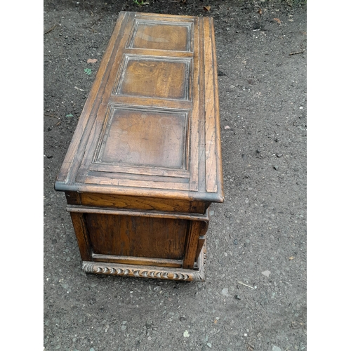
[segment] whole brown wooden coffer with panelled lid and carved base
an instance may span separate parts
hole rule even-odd
[[[204,280],[223,202],[213,20],[121,12],[55,190],[83,270]]]

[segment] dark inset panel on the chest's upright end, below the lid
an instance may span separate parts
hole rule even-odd
[[[188,220],[86,213],[93,253],[180,260]]]

